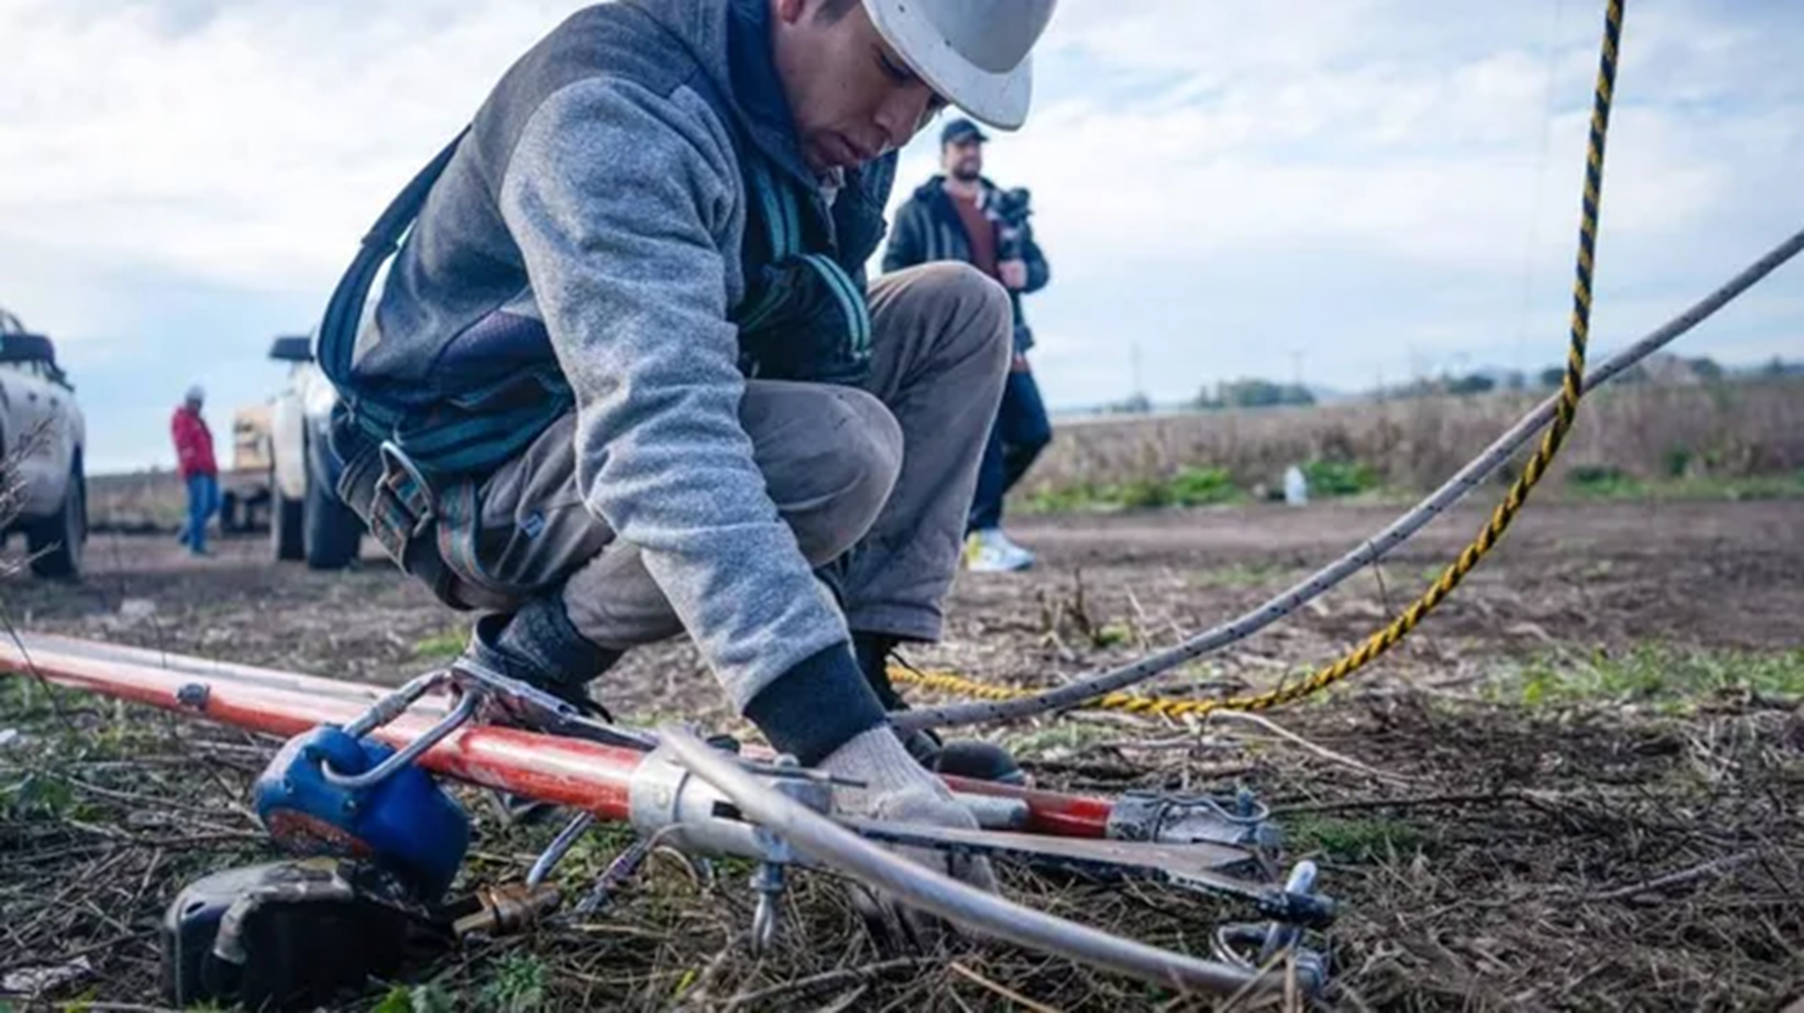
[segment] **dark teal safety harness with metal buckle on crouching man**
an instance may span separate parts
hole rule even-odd
[[[319,368],[341,398],[334,451],[346,461],[339,496],[384,552],[456,607],[505,607],[527,589],[478,561],[478,485],[520,456],[575,397],[556,360],[456,391],[397,389],[357,377],[357,335],[370,290],[419,220],[465,128],[382,211],[339,279],[319,326]],[[729,314],[747,377],[859,384],[870,370],[871,321],[862,287],[810,245],[797,184],[776,178],[750,142],[740,148],[747,202],[747,294]],[[754,245],[758,243],[758,245]],[[482,324],[476,324],[482,326]],[[433,559],[437,557],[437,559]],[[449,570],[449,571],[447,571]],[[460,591],[453,593],[453,577]],[[474,598],[474,600],[473,600]]]

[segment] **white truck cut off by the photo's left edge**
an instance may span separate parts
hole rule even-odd
[[[40,577],[79,577],[88,541],[81,469],[87,420],[56,346],[0,310],[0,487],[14,488],[16,517],[0,517],[0,543],[23,532]]]

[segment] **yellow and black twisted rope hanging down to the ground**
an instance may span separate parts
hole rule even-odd
[[[1578,402],[1584,397],[1586,348],[1591,333],[1591,269],[1597,252],[1598,207],[1604,193],[1604,141],[1609,135],[1609,106],[1616,90],[1616,47],[1622,41],[1622,11],[1624,0],[1607,0],[1604,14],[1604,49],[1598,59],[1597,88],[1591,103],[1591,137],[1586,150],[1584,207],[1578,222],[1578,263],[1573,279],[1571,339],[1566,350],[1566,375],[1560,379],[1559,404],[1546,436],[1542,436],[1535,454],[1523,467],[1523,474],[1510,485],[1503,503],[1499,503],[1492,512],[1490,521],[1486,521],[1472,543],[1465,546],[1459,559],[1449,564],[1447,570],[1441,571],[1440,579],[1434,580],[1434,584],[1431,584],[1420,598],[1411,602],[1409,607],[1393,618],[1389,625],[1367,636],[1358,647],[1349,651],[1340,660],[1312,672],[1302,680],[1281,683],[1265,692],[1218,699],[1176,699],[1113,692],[1091,701],[1088,707],[1160,717],[1185,717],[1203,716],[1212,710],[1268,710],[1293,703],[1321,692],[1340,680],[1346,680],[1391,647],[1396,647],[1429,613],[1436,609],[1436,606],[1445,602],[1447,597],[1454,593],[1454,588],[1465,580],[1467,573],[1470,573],[1479,561],[1497,546],[1503,534],[1510,528],[1510,523],[1515,521],[1517,514],[1521,514],[1523,506],[1528,503],[1530,492],[1533,492],[1535,485],[1548,474],[1553,458],[1566,442],[1566,434],[1571,433],[1573,422],[1578,416]],[[889,671],[889,678],[900,685],[915,685],[976,699],[1001,701],[1035,694],[1035,690],[985,685],[953,672],[916,672],[895,667]]]

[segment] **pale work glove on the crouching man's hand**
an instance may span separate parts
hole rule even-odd
[[[866,786],[862,789],[833,789],[833,804],[844,815],[897,824],[978,829],[976,817],[953,799],[945,782],[922,770],[888,725],[851,737],[821,761],[819,770]],[[998,892],[996,872],[985,858],[918,847],[897,847],[895,851],[909,862],[945,872],[980,890]],[[902,908],[893,901],[884,899],[882,908],[882,921],[895,923],[902,935],[916,946],[929,946],[949,932],[956,934],[940,919]],[[868,910],[866,914],[875,912]]]

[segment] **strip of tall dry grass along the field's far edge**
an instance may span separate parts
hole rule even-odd
[[[1431,397],[1156,418],[1057,429],[1023,496],[1079,483],[1225,469],[1236,485],[1275,487],[1292,463],[1358,461],[1384,483],[1429,488],[1524,415],[1537,395]],[[1575,467],[1629,478],[1746,478],[1804,469],[1804,382],[1604,388],[1586,400],[1557,476]]]

